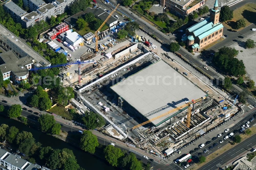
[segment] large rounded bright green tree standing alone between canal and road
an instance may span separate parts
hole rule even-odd
[[[89,130],[84,131],[80,140],[81,149],[89,153],[94,153],[97,146],[99,146],[97,136]]]

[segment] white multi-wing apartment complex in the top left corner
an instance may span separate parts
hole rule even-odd
[[[54,0],[47,4],[42,0],[23,0],[24,5],[32,11],[31,13],[27,13],[12,1],[6,1],[6,4],[3,6],[16,22],[21,23],[23,28],[28,28],[29,26],[33,26],[37,21],[63,14],[65,9],[73,1],[74,0]]]

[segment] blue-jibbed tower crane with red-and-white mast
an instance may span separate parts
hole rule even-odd
[[[81,64],[83,64],[83,63],[93,63],[93,62],[95,62],[95,61],[94,60],[81,61],[80,59],[77,59],[77,61],[75,61],[75,62],[69,62],[69,63],[63,63],[63,64],[54,64],[54,65],[50,65],[50,66],[31,68],[29,70],[33,71],[33,70],[41,70],[41,69],[52,68],[52,67],[61,67],[61,66],[67,66],[67,65],[72,65],[72,64],[78,64],[78,84],[79,84],[79,86],[81,86]]]

